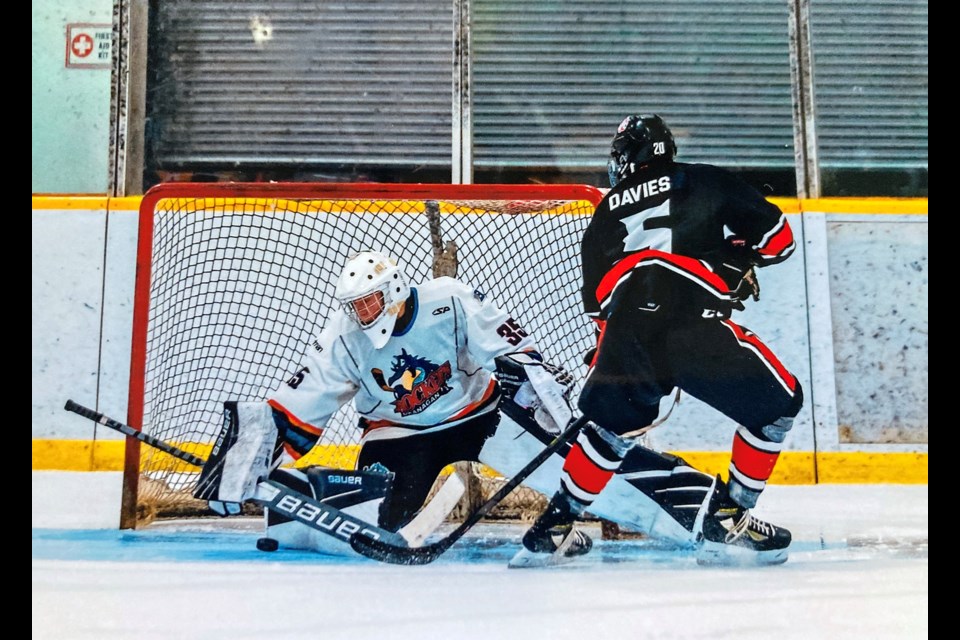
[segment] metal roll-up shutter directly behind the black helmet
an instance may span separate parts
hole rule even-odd
[[[794,172],[788,3],[473,0],[475,166],[602,167],[659,113],[684,162]]]

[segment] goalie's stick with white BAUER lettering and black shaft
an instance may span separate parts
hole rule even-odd
[[[89,409],[80,404],[77,404],[73,400],[67,400],[66,405],[63,407],[67,411],[71,411],[78,415],[81,415],[85,418],[89,418],[98,424],[102,424],[105,427],[109,427],[115,431],[128,436],[130,438],[136,438],[140,442],[150,445],[155,449],[159,449],[164,453],[167,453],[175,458],[188,462],[196,467],[202,467],[204,460],[198,458],[197,456],[180,449],[169,442],[164,442],[158,438],[155,438],[149,434],[143,433],[134,429],[130,425],[123,424],[118,422],[104,414]],[[449,481],[448,481],[449,482]],[[444,485],[446,488],[446,485]],[[414,521],[410,522],[406,527],[403,528],[404,535],[400,533],[394,533],[392,531],[387,531],[386,529],[381,529],[380,527],[370,524],[365,520],[351,516],[348,513],[344,513],[335,507],[323,504],[319,500],[316,500],[306,494],[295,491],[286,485],[277,482],[275,480],[261,480],[257,483],[256,491],[254,495],[249,498],[249,501],[258,504],[262,507],[272,509],[277,513],[281,513],[284,516],[296,520],[311,529],[315,529],[321,533],[324,533],[334,538],[339,539],[340,541],[347,543],[349,542],[352,535],[356,533],[362,533],[364,536],[368,536],[371,540],[382,540],[384,542],[390,542],[393,545],[407,547],[407,540],[410,539],[412,542],[420,542],[423,538],[426,537],[427,532],[422,529],[429,528],[431,525],[435,526],[438,522],[437,518],[438,510],[443,511],[443,516],[446,516],[447,513],[456,505],[457,501],[460,498],[460,493],[463,492],[463,485],[459,486],[460,491],[457,493],[456,485],[453,485],[452,490],[446,492],[438,492],[436,497],[443,496],[441,500],[432,500],[428,503],[427,507],[424,507],[423,510],[418,514],[417,518]],[[452,502],[451,502],[452,501]],[[430,508],[435,503],[434,508]],[[440,504],[440,503],[445,503]],[[447,506],[449,508],[447,508]],[[442,520],[442,517],[440,517]],[[422,522],[422,526],[418,526],[418,521]]]

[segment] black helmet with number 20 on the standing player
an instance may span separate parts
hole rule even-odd
[[[676,155],[677,144],[663,118],[658,115],[627,116],[617,127],[617,135],[610,144],[610,162],[607,163],[610,186],[617,186],[641,165],[672,161]]]

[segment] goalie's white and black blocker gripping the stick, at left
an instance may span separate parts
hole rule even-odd
[[[283,447],[265,402],[223,403],[223,427],[203,465],[193,497],[221,516],[240,513],[257,484],[279,466]]]

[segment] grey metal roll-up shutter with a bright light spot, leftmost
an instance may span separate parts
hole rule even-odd
[[[449,172],[450,0],[151,4],[154,167]]]

